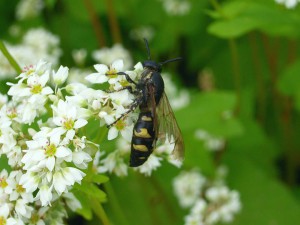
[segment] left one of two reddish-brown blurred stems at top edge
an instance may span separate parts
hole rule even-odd
[[[97,17],[97,13],[94,9],[94,6],[91,2],[91,0],[83,0],[83,3],[85,5],[85,8],[90,16],[90,20],[92,23],[92,26],[94,28],[94,32],[96,34],[96,38],[98,40],[98,45],[99,47],[104,47],[106,46],[106,42],[104,39],[104,35],[103,35],[103,30],[102,30],[102,25],[100,23],[100,20]]]

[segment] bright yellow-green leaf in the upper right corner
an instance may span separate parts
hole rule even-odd
[[[275,4],[233,1],[224,4],[219,14],[222,19],[212,23],[208,32],[220,38],[237,38],[252,30],[288,37],[300,35],[300,16],[283,12]]]

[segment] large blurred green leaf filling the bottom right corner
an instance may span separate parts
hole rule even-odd
[[[242,202],[242,211],[233,225],[299,223],[299,202],[286,186],[242,154],[227,155],[226,163],[229,184],[240,192]]]

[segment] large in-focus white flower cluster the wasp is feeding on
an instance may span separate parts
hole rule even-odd
[[[61,224],[67,216],[61,209],[64,204],[72,210],[81,207],[72,190],[84,179],[89,162],[98,173],[128,173],[137,113],[127,114],[135,96],[126,88],[130,85],[126,77],[118,74],[123,61],[97,64],[96,72],[86,76],[91,85],[104,85],[105,91],[68,84],[69,69],[51,67],[43,60],[25,67],[16,83],[8,83],[10,98],[0,96],[0,155],[6,156],[10,167],[10,172],[3,169],[0,174],[4,224],[45,224],[42,218]],[[126,73],[137,81],[142,71],[142,64],[137,63]],[[98,135],[86,128],[89,120],[96,122],[100,133],[110,125],[108,140],[122,137],[114,151],[98,151],[101,140],[92,142]],[[169,142],[162,143],[136,170],[150,175],[163,158],[175,164],[169,158],[172,149]]]

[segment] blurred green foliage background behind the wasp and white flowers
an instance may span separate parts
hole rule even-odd
[[[18,41],[8,33],[11,25],[19,25],[22,32],[43,26],[60,37],[61,64],[70,67],[73,49],[91,52],[116,42],[130,50],[134,61],[142,61],[143,41],[130,39],[129,32],[153,27],[152,58],[184,58],[166,66],[191,94],[190,105],[176,111],[186,144],[183,168],[200,168],[213,179],[218,165],[228,166],[227,183],[240,192],[243,205],[232,224],[299,224],[300,6],[288,10],[273,0],[190,2],[187,15],[171,16],[158,0],[47,0],[40,17],[17,21],[17,1],[1,1],[0,38]],[[93,13],[101,24],[101,37],[95,35]],[[87,65],[92,64],[89,58]],[[198,84],[207,68],[215,80],[209,92]],[[1,92],[5,90],[2,82]],[[228,110],[234,115],[224,119],[222,113]],[[208,152],[195,139],[200,128],[226,138],[222,152]],[[107,197],[102,192],[94,197],[107,199],[103,206],[113,224],[183,224],[188,211],[179,207],[172,190],[179,172],[165,164],[150,178],[134,171],[125,178],[112,176],[101,186]],[[90,207],[86,204],[81,212],[85,219],[70,218],[70,224],[99,224]]]

